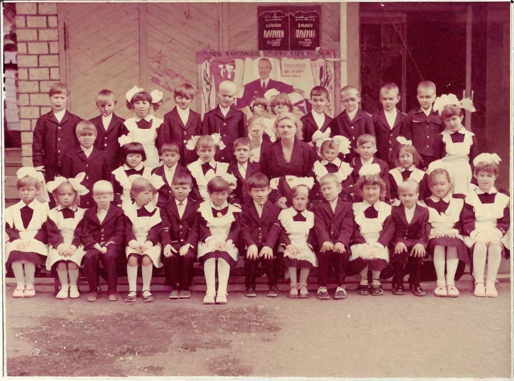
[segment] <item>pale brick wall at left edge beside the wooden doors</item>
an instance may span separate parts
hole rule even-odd
[[[48,89],[59,81],[56,3],[16,3],[18,92],[23,165],[32,165],[32,131],[50,111]]]

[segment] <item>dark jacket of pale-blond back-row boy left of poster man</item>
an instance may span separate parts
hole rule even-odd
[[[234,140],[248,136],[245,114],[230,107],[227,116],[224,117],[219,106],[216,106],[204,115],[202,135],[211,135],[216,132],[220,134],[225,148],[216,148],[214,160],[230,163],[234,157]]]

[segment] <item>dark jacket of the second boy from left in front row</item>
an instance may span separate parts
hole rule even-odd
[[[178,252],[181,246],[189,243],[189,250],[196,253],[198,245],[198,203],[191,197],[184,208],[182,218],[178,217],[178,208],[175,198],[162,206],[161,219],[162,229],[160,232],[162,247],[170,244]]]

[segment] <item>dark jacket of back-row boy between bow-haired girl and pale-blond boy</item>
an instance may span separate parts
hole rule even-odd
[[[161,153],[163,143],[173,142],[178,145],[180,154],[179,164],[187,166],[189,163],[198,159],[196,150],[186,148],[188,140],[196,135],[202,135],[200,114],[189,109],[189,118],[186,125],[184,125],[178,115],[177,106],[173,107],[170,112],[164,115],[164,120],[159,128],[159,136],[157,138],[159,154]]]

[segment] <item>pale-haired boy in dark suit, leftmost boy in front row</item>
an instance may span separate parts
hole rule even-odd
[[[84,245],[84,273],[89,283],[87,301],[101,296],[98,289],[98,264],[101,261],[107,274],[107,300],[118,300],[116,284],[116,257],[125,245],[125,215],[114,205],[113,185],[100,180],[93,185],[96,205],[84,213],[84,230],[81,242]]]

